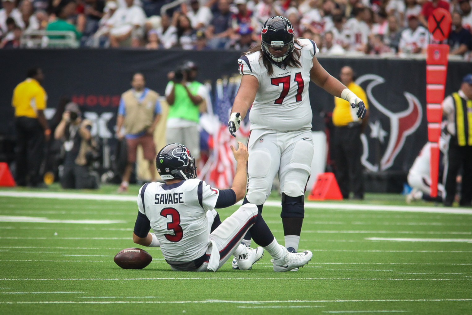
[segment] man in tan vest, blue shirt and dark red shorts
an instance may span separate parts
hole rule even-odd
[[[116,133],[119,140],[125,137],[128,151],[127,164],[123,173],[118,192],[128,190],[131,171],[136,162],[138,145],[143,147],[144,159],[149,162],[151,180],[156,180],[156,146],[153,135],[160,119],[159,94],[145,87],[146,81],[142,73],[132,77],[132,88],[121,94],[118,107]],[[125,127],[122,133],[121,127]]]

